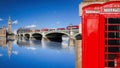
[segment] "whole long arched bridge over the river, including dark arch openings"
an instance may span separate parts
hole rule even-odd
[[[69,37],[70,44],[73,44],[75,40],[81,39],[81,32],[79,29],[21,31],[18,32],[17,36],[25,39],[48,40],[54,42],[62,42],[62,37]]]

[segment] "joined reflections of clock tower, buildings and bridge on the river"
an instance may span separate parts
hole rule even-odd
[[[8,48],[8,56],[10,57],[12,54],[12,43],[19,47],[27,47],[26,49],[33,49],[34,47],[41,47],[41,48],[48,48],[48,49],[55,49],[55,50],[74,50],[74,46],[68,46],[68,40],[64,40],[62,43],[58,42],[48,42],[48,41],[39,41],[39,40],[26,40],[26,39],[15,39],[13,40],[6,40],[6,38],[0,39],[0,46],[3,49]],[[14,52],[14,51],[13,51]]]

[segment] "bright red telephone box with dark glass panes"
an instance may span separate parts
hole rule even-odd
[[[120,68],[120,1],[82,12],[82,68]]]

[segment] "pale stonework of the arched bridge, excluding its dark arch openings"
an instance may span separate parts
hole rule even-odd
[[[29,34],[30,37],[32,37],[33,34],[41,34],[42,37],[46,38],[47,34],[51,33],[61,33],[63,35],[67,35],[69,38],[75,39],[77,35],[79,35],[79,29],[72,29],[72,30],[51,30],[51,31],[39,31],[39,32],[21,32],[18,35],[20,36],[21,34],[25,36],[25,34]],[[81,34],[80,34],[81,35]]]

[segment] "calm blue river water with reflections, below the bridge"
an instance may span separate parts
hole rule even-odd
[[[0,68],[75,68],[75,46],[39,40],[0,40]]]

